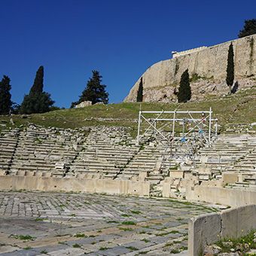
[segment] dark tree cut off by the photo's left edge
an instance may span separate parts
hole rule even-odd
[[[0,114],[9,114],[11,110],[11,79],[4,75],[0,82]]]

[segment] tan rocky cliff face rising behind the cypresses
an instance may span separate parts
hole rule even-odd
[[[181,74],[185,69],[190,74],[192,100],[227,94],[227,52],[231,42],[238,90],[256,85],[256,35],[250,35],[224,44],[202,47],[202,50],[188,50],[172,59],[155,63],[141,76],[143,101],[176,101],[175,92],[178,91]],[[136,102],[141,78],[133,85],[125,102]]]

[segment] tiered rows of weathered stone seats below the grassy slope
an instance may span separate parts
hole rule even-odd
[[[127,130],[117,127],[91,127],[85,138],[80,130],[60,130],[31,126],[23,131],[0,136],[1,163],[11,174],[27,171],[27,175],[93,175],[99,178],[133,179],[147,172],[146,180],[157,184],[169,175],[170,167],[181,163],[186,145],[173,150],[176,159],[163,156],[170,149],[157,142],[136,146]],[[145,139],[146,142],[146,139]],[[243,173],[244,181],[253,183],[256,136],[219,136],[209,148],[201,148],[196,165],[211,167],[212,175],[220,177],[229,170]],[[200,163],[200,156],[209,157]],[[56,163],[66,163],[69,172],[56,169]],[[159,169],[156,163],[161,162]],[[220,162],[220,163],[219,163]],[[190,168],[186,166],[186,168]],[[25,173],[25,172],[24,172]],[[246,175],[245,175],[246,174]],[[89,177],[89,176],[88,176]]]

